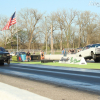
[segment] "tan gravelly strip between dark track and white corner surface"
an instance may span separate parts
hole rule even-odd
[[[0,82],[53,100],[100,100],[100,95],[52,84],[0,74]]]

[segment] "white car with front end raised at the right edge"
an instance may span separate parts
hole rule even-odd
[[[76,57],[84,57],[84,59],[94,59],[95,62],[100,61],[100,44],[90,44],[83,47],[81,51],[76,53]]]

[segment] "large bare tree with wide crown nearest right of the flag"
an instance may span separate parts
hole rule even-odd
[[[20,26],[28,32],[28,49],[30,49],[33,37],[39,32],[38,25],[40,19],[42,18],[42,14],[38,13],[38,11],[34,9],[22,9],[19,14],[19,21],[22,22]]]

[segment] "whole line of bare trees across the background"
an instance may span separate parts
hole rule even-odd
[[[0,29],[8,22],[0,16]],[[36,9],[22,9],[17,13],[17,25],[0,31],[0,46],[16,49],[51,50],[79,48],[100,41],[100,16],[90,11],[73,9],[52,12],[49,15]]]

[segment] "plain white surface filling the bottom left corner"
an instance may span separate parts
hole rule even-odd
[[[0,82],[0,100],[51,100]]]

